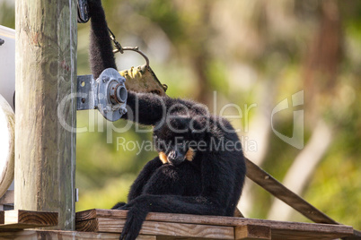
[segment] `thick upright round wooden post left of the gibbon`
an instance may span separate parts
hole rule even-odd
[[[57,211],[66,230],[75,228],[76,101],[63,100],[76,92],[76,6],[15,4],[15,209]]]

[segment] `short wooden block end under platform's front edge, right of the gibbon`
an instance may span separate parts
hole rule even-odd
[[[234,238],[237,239],[271,239],[271,228],[265,226],[246,225],[234,227]]]

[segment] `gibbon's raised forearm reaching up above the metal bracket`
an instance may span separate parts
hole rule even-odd
[[[89,58],[92,75],[97,79],[102,71],[109,67],[117,69],[117,65],[101,0],[89,1],[89,13],[91,16]]]

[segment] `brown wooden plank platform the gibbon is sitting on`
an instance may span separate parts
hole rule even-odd
[[[120,233],[125,210],[85,210],[76,213],[76,230]],[[170,213],[149,213],[141,237],[211,239],[335,239],[352,236],[353,227]]]

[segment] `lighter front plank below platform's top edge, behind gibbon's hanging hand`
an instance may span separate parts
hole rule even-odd
[[[88,222],[90,223],[84,223]],[[78,231],[120,233],[126,219],[91,219],[76,224]],[[233,227],[145,221],[140,234],[154,236],[234,239]]]

